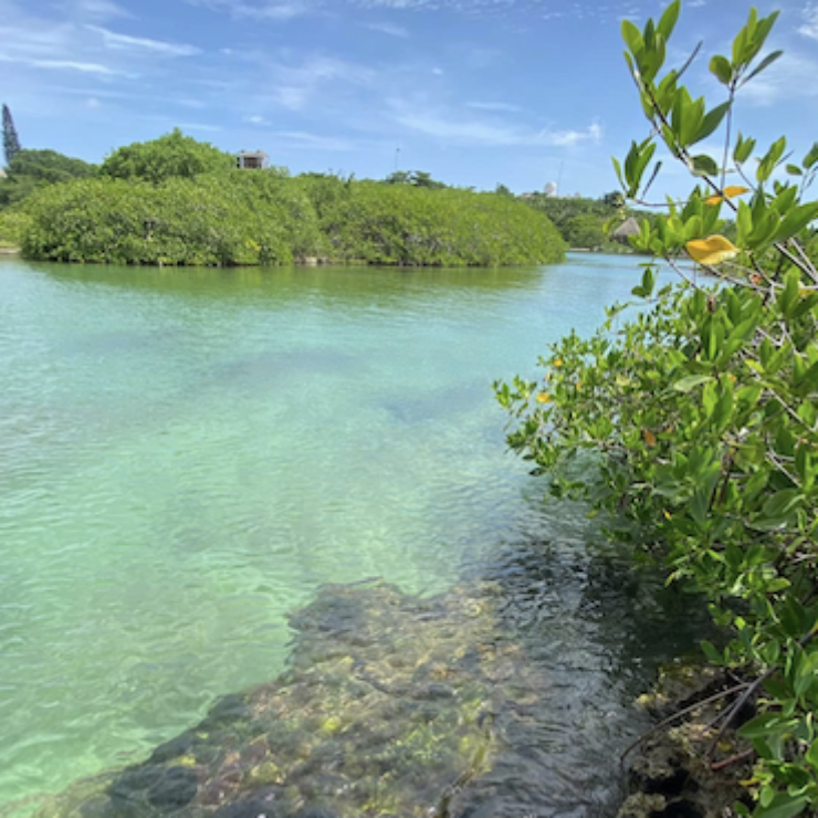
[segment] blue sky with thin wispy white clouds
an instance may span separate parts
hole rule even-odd
[[[423,170],[516,193],[617,189],[648,126],[622,60],[623,18],[659,0],[0,0],[0,102],[28,148],[98,162],[174,127],[235,153],[263,149],[292,172],[384,178]],[[669,64],[700,41],[707,72],[746,20],[745,0],[683,4]],[[780,9],[782,57],[748,84],[737,127],[799,159],[818,139],[818,2]],[[719,150],[714,140],[705,146]],[[683,168],[662,192],[689,189]],[[659,185],[658,185],[659,186]]]

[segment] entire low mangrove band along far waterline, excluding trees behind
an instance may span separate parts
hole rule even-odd
[[[544,216],[513,198],[280,171],[101,177],[25,203],[23,252],[53,261],[501,265],[563,258]]]

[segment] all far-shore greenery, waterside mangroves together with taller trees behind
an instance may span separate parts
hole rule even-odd
[[[242,170],[176,130],[99,168],[20,151],[0,182],[0,243],[36,261],[243,266],[508,266],[565,258],[539,208],[424,174],[385,181]]]

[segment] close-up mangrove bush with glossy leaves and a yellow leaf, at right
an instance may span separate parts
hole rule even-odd
[[[679,84],[684,69],[661,75],[678,14],[673,2],[643,30],[622,25],[651,136],[617,172],[629,197],[643,196],[659,135],[706,186],[633,239],[685,281],[657,292],[657,269],[644,265],[627,321],[612,308],[590,339],[571,334],[553,347],[542,381],[497,385],[497,397],[515,418],[510,444],[550,476],[550,492],[605,510],[614,536],[703,591],[728,629],[726,647],[704,650],[748,680],[757,715],[738,732],[756,757],[745,783],[753,815],[815,814],[818,202],[806,196],[818,147],[786,168],[795,182],[770,183],[785,170],[784,138],[755,174],[743,168],[755,141],[741,134],[734,168],[695,155],[714,133],[730,155],[736,93],[778,56],[761,56],[776,14],[751,10],[732,56],[711,60],[727,94],[712,108]],[[727,186],[728,174],[741,183]],[[723,210],[735,217],[736,245],[720,234]],[[699,285],[685,256],[721,281]]]

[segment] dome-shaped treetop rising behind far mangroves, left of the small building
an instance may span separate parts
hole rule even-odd
[[[200,174],[227,172],[234,167],[235,158],[230,154],[176,128],[158,139],[115,150],[103,162],[102,174],[158,183],[172,177],[190,179]]]

